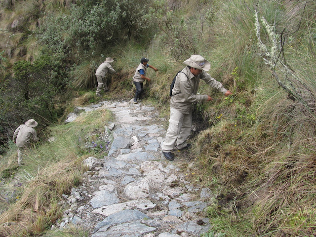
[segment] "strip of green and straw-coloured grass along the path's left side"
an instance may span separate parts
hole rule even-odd
[[[6,211],[0,214],[0,235],[38,235],[62,217],[61,195],[79,185],[85,171],[81,163],[89,156],[83,152],[85,136],[93,129],[104,129],[104,123],[110,118],[110,112],[98,110],[86,113],[72,123],[49,127],[49,135],[55,141],[36,144],[26,151],[24,165],[12,174],[20,177],[17,185],[11,186],[13,195],[1,202]],[[1,159],[2,176],[8,168],[16,167],[16,152],[13,147],[11,150],[11,154]],[[0,188],[2,192],[8,192],[3,180],[11,183],[14,180],[2,178]]]

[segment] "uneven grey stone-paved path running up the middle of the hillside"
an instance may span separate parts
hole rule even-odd
[[[207,232],[211,226],[204,209],[210,191],[186,180],[189,171],[181,170],[179,159],[161,156],[166,129],[158,111],[132,101],[77,107],[95,109],[114,113],[108,125],[114,141],[104,160],[84,161],[90,171],[79,188],[64,195],[71,207],[58,228],[72,223],[91,237],[199,237]]]

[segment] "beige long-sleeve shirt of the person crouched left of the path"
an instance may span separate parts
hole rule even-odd
[[[21,124],[13,134],[13,141],[16,141],[16,145],[19,147],[27,147],[30,145],[31,141],[37,140],[36,130],[25,124]]]

